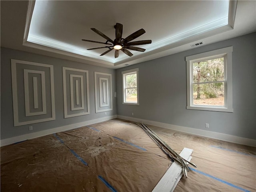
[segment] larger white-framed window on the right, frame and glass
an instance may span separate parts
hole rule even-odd
[[[186,57],[187,109],[233,112],[232,50],[227,47]]]

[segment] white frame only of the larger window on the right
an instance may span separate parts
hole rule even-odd
[[[226,47],[214,51],[186,57],[187,62],[187,109],[233,112],[232,100],[232,51],[233,47]],[[203,60],[224,57],[224,106],[193,104],[193,63]]]

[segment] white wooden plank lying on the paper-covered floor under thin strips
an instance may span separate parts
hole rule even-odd
[[[183,148],[183,150],[180,152],[180,156],[190,161],[192,152],[192,149]],[[178,163],[173,162],[158,184],[156,184],[152,192],[173,192],[181,178],[182,167]]]

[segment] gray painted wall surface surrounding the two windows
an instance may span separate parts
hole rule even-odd
[[[186,109],[185,57],[228,46],[233,46],[234,112]],[[132,68],[139,68],[139,106],[122,104],[121,72]],[[256,33],[118,69],[116,86],[118,115],[255,139]]]

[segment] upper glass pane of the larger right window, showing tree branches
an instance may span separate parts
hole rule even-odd
[[[193,82],[223,81],[224,58],[193,63]]]

